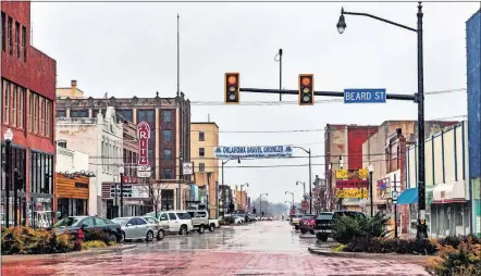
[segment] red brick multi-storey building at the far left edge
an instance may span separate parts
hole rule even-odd
[[[54,124],[57,63],[30,46],[30,2],[1,2],[1,139],[3,214],[13,223],[13,184],[17,189],[17,223],[49,226],[54,183]],[[13,134],[10,172],[5,167],[3,134]],[[14,173],[16,170],[17,174]],[[9,206],[7,190],[9,187]]]

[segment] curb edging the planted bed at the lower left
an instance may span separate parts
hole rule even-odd
[[[2,263],[14,263],[21,261],[29,261],[29,260],[50,260],[50,259],[60,259],[60,258],[71,258],[71,256],[83,256],[83,255],[98,255],[98,254],[107,254],[113,252],[122,252],[130,251],[136,249],[137,244],[130,244],[124,247],[114,247],[114,248],[101,248],[101,249],[90,249],[87,251],[81,252],[69,252],[69,253],[55,253],[55,254],[25,254],[25,255],[2,255]]]

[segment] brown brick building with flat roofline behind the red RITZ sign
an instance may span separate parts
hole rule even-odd
[[[86,97],[72,81],[72,87],[60,88],[57,100],[59,117],[91,117],[107,106],[114,106],[116,117],[135,125],[145,121],[150,126],[148,158],[151,181],[161,184],[161,205],[177,206],[177,187],[182,161],[190,160],[190,101],[181,92],[175,98],[116,99],[115,97]],[[103,112],[102,112],[103,113]],[[190,176],[182,176],[181,208],[190,198]]]

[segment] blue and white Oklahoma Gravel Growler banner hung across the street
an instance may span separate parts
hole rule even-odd
[[[291,146],[251,146],[251,147],[215,147],[214,156],[218,159],[242,158],[291,158]]]

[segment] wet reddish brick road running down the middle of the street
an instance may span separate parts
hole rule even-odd
[[[299,236],[287,222],[258,222],[136,242],[122,253],[8,262],[2,275],[427,275],[409,263],[312,255],[316,239]]]

